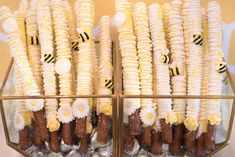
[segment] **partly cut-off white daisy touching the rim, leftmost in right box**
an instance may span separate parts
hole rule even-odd
[[[140,99],[124,99],[124,113],[132,115],[140,108]]]

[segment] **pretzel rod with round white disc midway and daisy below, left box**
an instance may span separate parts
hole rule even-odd
[[[53,26],[55,31],[56,43],[56,63],[55,72],[59,75],[59,94],[72,94],[72,70],[71,70],[71,49],[69,42],[68,21],[66,19],[66,8],[64,1],[51,1],[51,10],[53,17]],[[66,123],[62,127],[62,139],[65,144],[72,144],[72,99],[60,99],[58,119],[62,123]],[[67,143],[68,142],[68,143]]]

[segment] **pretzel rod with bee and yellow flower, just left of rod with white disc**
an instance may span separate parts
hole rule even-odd
[[[38,6],[38,8],[36,8]],[[37,9],[37,23],[36,20],[36,9]],[[36,28],[31,28],[31,40],[32,37],[38,37],[41,45],[41,62],[42,62],[42,73],[43,73],[43,87],[46,95],[56,95],[56,74],[54,70],[54,47],[53,47],[53,32],[52,32],[52,17],[49,8],[49,1],[42,0],[37,2],[36,0],[31,1],[32,15],[29,15],[29,25],[38,25],[39,37]],[[31,21],[32,20],[32,21]],[[38,44],[32,44],[31,47],[38,48]],[[33,55],[33,54],[32,54]],[[57,120],[57,109],[58,102],[54,99],[47,99],[45,102],[45,111],[47,118],[47,128],[50,131],[49,147],[52,151],[58,152],[58,130],[60,123]]]

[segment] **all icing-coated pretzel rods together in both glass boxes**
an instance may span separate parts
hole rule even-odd
[[[199,0],[162,6],[115,0],[115,10],[113,18],[103,16],[95,27],[92,0],[77,0],[74,11],[67,0],[22,0],[14,14],[1,7],[0,22],[15,61],[16,94],[111,95],[112,25],[118,31],[123,94],[222,94],[227,67],[217,1],[202,8]],[[201,157],[215,149],[220,100],[125,98],[123,104],[127,156],[179,156],[185,150]],[[101,155],[112,144],[112,105],[111,98],[18,100],[19,146]]]

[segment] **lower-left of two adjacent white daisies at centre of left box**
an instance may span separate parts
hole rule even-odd
[[[70,105],[63,105],[59,108],[57,118],[62,123],[71,122],[74,117],[72,113],[72,107]]]

